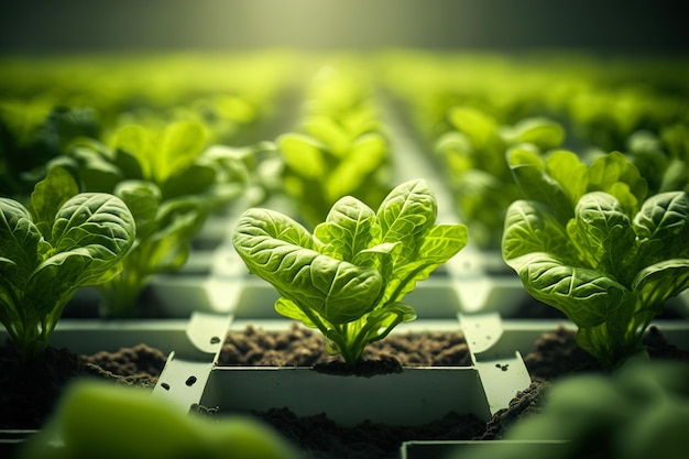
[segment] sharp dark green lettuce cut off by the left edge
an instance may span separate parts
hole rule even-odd
[[[29,208],[0,198],[0,321],[23,359],[45,348],[76,289],[116,276],[134,243],[134,218],[120,198],[78,192],[54,167]]]

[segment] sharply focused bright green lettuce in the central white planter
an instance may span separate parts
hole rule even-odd
[[[248,209],[232,242],[280,293],[277,313],[320,330],[328,352],[353,365],[369,342],[416,318],[405,294],[467,244],[463,225],[435,225],[436,215],[434,194],[416,179],[378,211],[342,197],[313,234],[281,212]]]

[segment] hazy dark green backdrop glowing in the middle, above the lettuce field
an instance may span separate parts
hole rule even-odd
[[[13,1],[0,52],[287,46],[682,52],[679,0]]]

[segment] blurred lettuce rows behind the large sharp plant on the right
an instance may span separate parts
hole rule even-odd
[[[500,249],[504,212],[524,197],[506,152],[556,150],[591,164],[621,152],[648,193],[689,181],[689,62],[527,54],[391,53],[386,87],[409,107],[430,159],[446,172],[472,243]]]

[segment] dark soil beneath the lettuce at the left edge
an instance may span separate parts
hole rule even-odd
[[[39,429],[67,385],[78,378],[153,387],[166,356],[140,345],[118,352],[76,356],[48,347],[21,362],[13,346],[0,347],[0,429]]]

